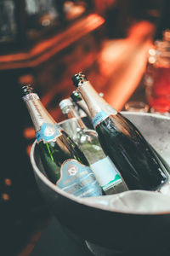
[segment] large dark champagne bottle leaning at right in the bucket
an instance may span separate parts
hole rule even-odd
[[[105,154],[128,189],[159,190],[167,183],[168,172],[139,130],[98,95],[84,74],[77,73],[72,81],[88,105]]]

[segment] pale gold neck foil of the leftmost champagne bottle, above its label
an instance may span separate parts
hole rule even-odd
[[[35,128],[35,131],[40,131],[41,126],[44,123],[55,124],[55,120],[48,113],[47,109],[43,107],[42,102],[36,93],[30,93],[23,97],[26,103],[26,108],[31,115],[31,119]]]

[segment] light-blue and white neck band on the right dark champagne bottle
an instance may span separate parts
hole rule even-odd
[[[99,113],[97,113],[94,118],[92,119],[93,124],[94,124],[94,128],[99,125],[99,123],[101,123],[103,120],[105,120],[106,118],[108,118],[108,116],[110,116],[111,114],[116,114],[116,109],[112,108],[110,105],[105,104],[105,107],[102,107],[102,111],[100,111]]]

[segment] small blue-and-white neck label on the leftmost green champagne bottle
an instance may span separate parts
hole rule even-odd
[[[53,142],[61,135],[62,128],[58,124],[44,123],[40,131],[37,131],[37,143],[43,141],[44,143]]]

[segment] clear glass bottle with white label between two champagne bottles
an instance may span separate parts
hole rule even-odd
[[[105,195],[116,194],[127,190],[127,186],[122,180],[122,177],[116,171],[116,166],[113,165],[108,156],[106,157],[101,148],[97,132],[88,129],[82,122],[82,119],[73,108],[71,100],[62,100],[59,102],[59,107],[65,114],[66,119],[75,118],[77,120],[77,128],[72,138],[87,157],[95,177],[105,191]]]

